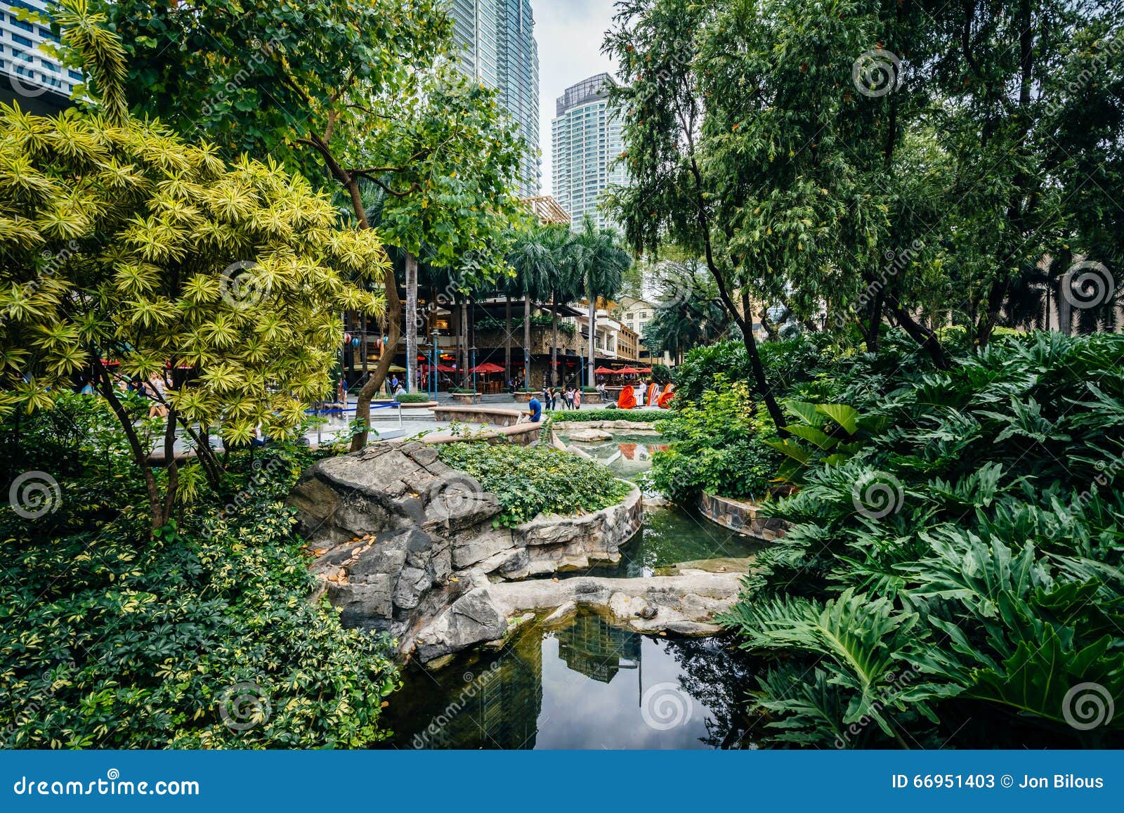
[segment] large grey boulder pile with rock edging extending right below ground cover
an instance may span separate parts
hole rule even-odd
[[[481,584],[619,561],[643,521],[633,487],[624,503],[595,514],[493,527],[496,497],[442,463],[434,446],[413,442],[323,460],[289,503],[344,624],[388,631],[407,650],[453,607],[451,640],[500,636],[507,616],[492,612],[487,595],[470,597]]]

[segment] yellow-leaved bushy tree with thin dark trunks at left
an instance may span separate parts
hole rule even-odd
[[[338,229],[330,202],[277,163],[227,164],[212,145],[129,118],[117,39],[83,0],[56,21],[100,111],[0,114],[0,408],[49,408],[72,377],[89,377],[128,437],[158,529],[180,487],[176,425],[212,485],[207,427],[228,444],[259,426],[291,433],[327,390],[337,314],[382,313],[352,280],[382,273],[386,254],[373,233]],[[149,392],[169,409],[158,478],[118,385],[175,368],[194,374]]]

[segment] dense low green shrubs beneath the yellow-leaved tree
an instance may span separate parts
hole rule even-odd
[[[228,493],[200,493],[152,539],[119,439],[90,428],[103,405],[64,398],[81,418],[70,435],[54,434],[49,413],[25,416],[18,433],[3,427],[22,466],[58,472],[55,511],[28,520],[0,508],[3,743],[361,748],[384,738],[380,707],[400,685],[392,642],[345,630],[326,600],[309,600],[308,555],[281,502],[311,454],[232,454]],[[46,436],[53,445],[37,448]],[[70,468],[53,468],[66,449]]]

